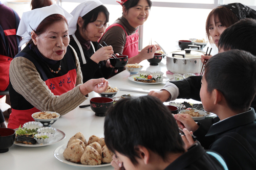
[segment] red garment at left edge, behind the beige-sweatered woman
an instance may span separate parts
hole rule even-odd
[[[0,91],[5,91],[9,85],[9,69],[11,57],[0,55]],[[0,95],[3,98],[4,95]]]

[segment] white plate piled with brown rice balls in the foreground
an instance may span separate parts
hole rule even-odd
[[[113,155],[106,147],[103,137],[92,135],[87,142],[81,132],[72,136],[68,144],[63,144],[54,151],[54,156],[59,161],[80,167],[110,166]]]

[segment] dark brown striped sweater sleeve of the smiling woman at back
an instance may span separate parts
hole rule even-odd
[[[114,53],[122,55],[126,43],[126,34],[121,27],[115,26],[109,29],[101,38],[100,44],[105,41],[106,44],[113,47]]]

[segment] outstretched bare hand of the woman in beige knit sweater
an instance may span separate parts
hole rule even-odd
[[[91,79],[86,83],[83,83],[79,86],[79,89],[83,95],[87,95],[88,93],[95,91],[96,93],[102,93],[106,91],[109,87],[109,81],[104,78],[100,79]]]

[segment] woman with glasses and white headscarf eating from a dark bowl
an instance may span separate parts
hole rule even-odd
[[[83,83],[90,79],[109,78],[113,68],[108,60],[112,46],[99,47],[98,40],[108,26],[109,11],[98,0],[87,0],[72,12],[69,23],[70,45],[80,61]]]

